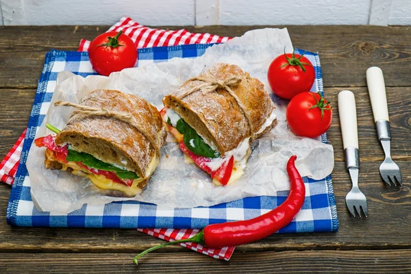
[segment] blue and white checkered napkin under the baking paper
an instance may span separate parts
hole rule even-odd
[[[139,49],[138,66],[152,62],[166,62],[180,58],[195,58],[202,55],[211,45],[183,45]],[[297,50],[297,53],[301,51]],[[319,55],[306,53],[316,69],[316,82],[312,90],[323,91]],[[210,208],[162,208],[149,203],[123,201],[106,205],[85,205],[83,208],[64,215],[38,212],[30,195],[30,179],[25,166],[27,153],[36,135],[38,126],[47,113],[57,74],[71,71],[84,77],[94,74],[88,53],[51,51],[47,53],[45,66],[38,82],[38,90],[29,119],[21,162],[8,205],[7,221],[10,225],[33,227],[121,227],[121,228],[202,228],[211,223],[250,219],[279,206],[288,192],[277,192],[276,197],[250,197],[222,203]],[[327,142],[326,135],[321,138]],[[306,201],[290,225],[279,232],[335,232],[338,219],[331,176],[315,181],[303,178],[306,183]]]

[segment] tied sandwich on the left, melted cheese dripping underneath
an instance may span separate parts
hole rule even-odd
[[[110,193],[134,197],[158,166],[166,129],[153,105],[117,90],[95,90],[73,106],[69,123],[57,135],[35,140],[46,147],[45,166],[87,177]],[[115,193],[115,194],[114,194]]]

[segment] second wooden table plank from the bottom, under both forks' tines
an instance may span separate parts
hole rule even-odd
[[[289,251],[310,249],[411,249],[411,161],[398,161],[404,185],[389,188],[379,177],[378,162],[362,162],[360,188],[368,199],[369,218],[354,219],[345,206],[351,189],[343,162],[332,173],[340,229],[338,233],[274,234],[248,245],[243,251]],[[0,186],[0,208],[7,208],[10,186]],[[10,227],[5,210],[0,215],[0,251],[3,252],[138,252],[162,240],[133,229],[75,229]],[[169,246],[163,252],[186,252]],[[1,256],[0,256],[1,258]]]

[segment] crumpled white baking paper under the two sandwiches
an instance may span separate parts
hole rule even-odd
[[[217,62],[237,64],[242,70],[257,77],[272,92],[266,79],[267,69],[277,55],[292,51],[287,29],[257,29],[234,38],[222,45],[214,45],[199,58],[173,58],[169,62],[149,64],[125,69],[110,77],[86,78],[62,72],[58,76],[51,107],[36,138],[50,134],[45,123],[62,129],[72,108],[54,107],[57,100],[77,103],[97,88],[116,89],[138,95],[159,110],[162,98],[174,92],[190,77],[210,69]],[[141,195],[134,198],[109,197],[82,177],[63,171],[45,169],[45,148],[32,145],[27,169],[32,186],[32,198],[38,210],[67,213],[81,208],[84,203],[110,203],[134,199],[173,208],[212,206],[243,197],[276,195],[288,190],[286,162],[297,155],[297,168],[301,175],[322,179],[334,168],[331,145],[318,140],[300,138],[292,134],[285,119],[286,101],[275,99],[278,125],[253,143],[253,153],[247,163],[245,175],[229,186],[214,186],[210,175],[195,164],[184,162],[182,152],[173,138],[167,138],[162,148],[160,164],[149,179]],[[168,157],[166,157],[168,155]]]

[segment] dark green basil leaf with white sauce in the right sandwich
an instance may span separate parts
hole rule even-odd
[[[177,121],[176,128],[179,133],[184,134],[184,144],[190,151],[192,151],[192,153],[195,153],[195,155],[207,158],[220,157],[220,153],[212,150],[212,148],[204,142],[203,138],[201,138],[183,119]]]

